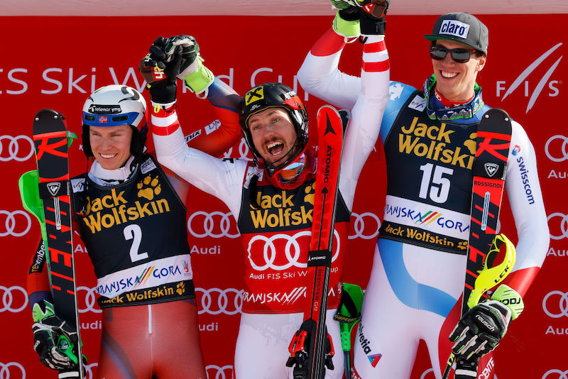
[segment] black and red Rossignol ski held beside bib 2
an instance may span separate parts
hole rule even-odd
[[[77,289],[70,202],[69,165],[67,162],[67,129],[62,114],[43,109],[33,121],[35,158],[38,161],[39,197],[43,202],[45,217],[44,243],[48,256],[48,273],[55,313],[70,326],[75,327],[80,341]],[[58,348],[64,351],[78,368],[60,372],[60,378],[82,378],[81,344],[60,337]]]

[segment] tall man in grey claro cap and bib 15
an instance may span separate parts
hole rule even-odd
[[[298,72],[307,92],[348,109],[361,91],[361,80],[340,72],[337,65],[345,41],[359,36],[359,25],[361,31],[366,27],[360,7],[370,2],[361,3],[332,1],[340,9],[333,31],[315,43]],[[477,127],[490,109],[476,84],[487,60],[488,29],[469,13],[447,13],[425,37],[432,41],[434,74],[422,89],[391,82],[382,119],[386,207],[354,346],[354,378],[409,378],[422,339],[439,379],[452,351],[450,335],[456,341],[454,352],[467,345],[468,353],[474,352],[470,359],[479,362],[518,316],[513,312],[511,317],[511,310],[493,297],[460,319],[471,168]],[[549,231],[535,151],[515,121],[506,189],[519,239],[513,272],[503,283],[520,300],[545,258]],[[494,378],[493,366],[486,366],[490,355],[479,366],[491,371],[484,378]]]

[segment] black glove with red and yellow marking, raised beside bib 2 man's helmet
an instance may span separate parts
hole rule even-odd
[[[176,99],[178,85],[175,82],[182,65],[181,45],[174,45],[169,38],[158,37],[143,57],[138,70],[148,85],[150,97],[158,104],[170,104]]]

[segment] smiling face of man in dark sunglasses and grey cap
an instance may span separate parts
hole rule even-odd
[[[468,45],[453,40],[436,40],[436,45],[442,45],[448,50],[457,48],[473,50]],[[477,72],[483,70],[486,59],[485,55],[478,57],[471,54],[468,62],[457,63],[450,53],[447,53],[443,60],[432,59],[438,92],[451,101],[464,102],[471,99],[475,94]]]

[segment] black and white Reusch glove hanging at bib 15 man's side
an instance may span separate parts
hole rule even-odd
[[[497,300],[477,304],[466,312],[449,335],[452,351],[468,361],[479,360],[496,348],[507,331],[511,310]]]

